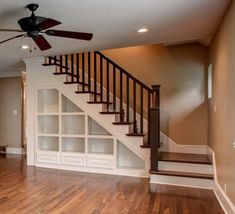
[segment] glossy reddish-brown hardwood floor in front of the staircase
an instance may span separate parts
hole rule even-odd
[[[1,214],[217,214],[210,190],[149,185],[148,179],[27,167],[0,157]]]

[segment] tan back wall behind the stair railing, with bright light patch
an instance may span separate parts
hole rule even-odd
[[[208,50],[199,44],[102,51],[151,86],[161,87],[161,130],[178,144],[207,144]]]

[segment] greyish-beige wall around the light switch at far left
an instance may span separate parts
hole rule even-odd
[[[21,147],[20,77],[0,78],[0,145]]]

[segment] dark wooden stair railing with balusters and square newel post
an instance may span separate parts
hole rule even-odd
[[[66,75],[65,84],[77,84],[76,93],[90,93],[88,103],[105,104],[102,114],[119,115],[114,125],[131,125],[128,136],[144,136],[142,147],[151,147],[151,170],[157,167],[160,145],[160,86],[148,87],[99,51],[45,58],[55,65],[55,75]],[[147,122],[147,125],[146,124]]]

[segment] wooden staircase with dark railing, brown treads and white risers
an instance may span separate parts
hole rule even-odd
[[[112,124],[120,132],[150,148],[150,182],[213,187],[210,156],[161,152],[159,85],[150,88],[98,51],[46,57],[43,65],[55,66],[54,75],[65,75],[64,84],[89,94],[89,105],[101,105],[104,118],[114,115]]]

